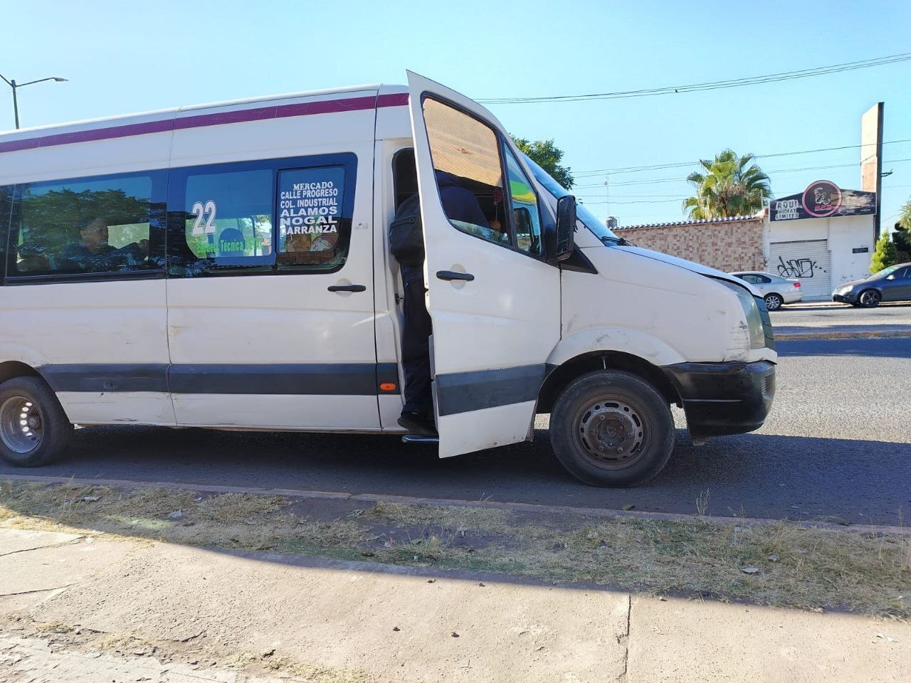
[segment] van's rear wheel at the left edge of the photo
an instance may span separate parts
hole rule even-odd
[[[14,377],[0,384],[0,460],[17,467],[50,463],[72,434],[67,413],[43,380]]]

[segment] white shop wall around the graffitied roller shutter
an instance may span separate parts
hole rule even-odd
[[[873,216],[837,216],[770,221],[767,216],[763,230],[765,270],[776,272],[776,264],[769,258],[769,244],[772,242],[829,240],[832,289],[843,282],[861,280],[870,274],[870,259],[875,248],[873,219]],[[853,252],[863,247],[867,248],[865,253]]]

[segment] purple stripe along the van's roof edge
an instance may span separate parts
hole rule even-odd
[[[373,109],[374,107],[404,107],[404,105],[407,104],[408,93],[393,93],[389,95],[380,95],[379,97],[346,97],[343,99],[323,100],[322,102],[301,102],[294,105],[281,105],[280,107],[240,109],[237,111],[225,111],[216,114],[198,114],[188,117],[178,116],[159,121],[132,123],[126,126],[79,130],[74,133],[57,133],[56,135],[46,135],[41,138],[9,140],[8,142],[0,142],[0,152],[15,152],[21,149],[54,147],[56,145],[72,145],[77,142],[92,142],[93,140],[128,138],[129,136],[146,135],[148,133],[164,133],[169,130],[222,126],[231,123],[243,123],[245,121],[261,121],[267,118],[306,117],[313,114],[361,111],[363,109]]]

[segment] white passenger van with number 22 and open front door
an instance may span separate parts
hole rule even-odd
[[[74,423],[402,433],[387,226],[420,190],[440,457],[531,439],[589,484],[762,425],[742,280],[619,240],[422,76],[0,135],[0,456]],[[447,219],[435,169],[498,229]],[[578,213],[577,213],[578,211]]]

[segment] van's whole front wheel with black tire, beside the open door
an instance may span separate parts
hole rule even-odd
[[[674,421],[649,382],[598,370],[560,392],[550,414],[550,443],[560,464],[586,484],[635,486],[668,463]]]

